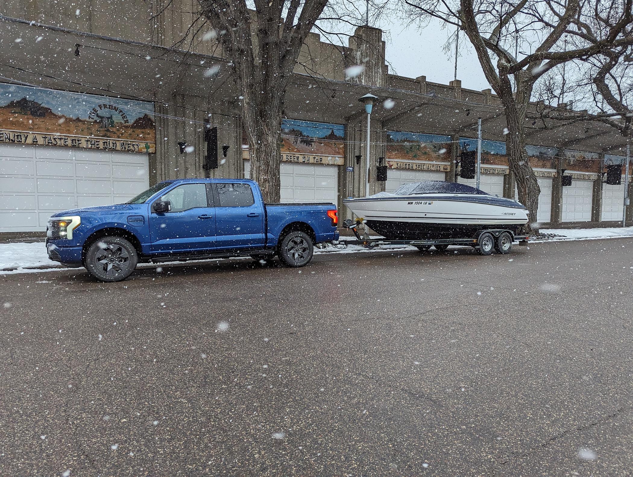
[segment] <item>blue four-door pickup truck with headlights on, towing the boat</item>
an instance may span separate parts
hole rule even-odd
[[[124,204],[77,208],[47,224],[51,260],[120,281],[139,262],[275,255],[303,267],[313,246],[339,238],[332,203],[264,203],[245,179],[164,181]]]

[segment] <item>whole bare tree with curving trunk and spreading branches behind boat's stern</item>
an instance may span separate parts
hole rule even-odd
[[[418,18],[438,18],[460,28],[475,48],[505,111],[510,169],[532,224],[537,222],[541,192],[525,150],[525,118],[534,86],[544,74],[567,61],[632,44],[628,35],[631,0],[623,1],[617,14],[614,10],[613,15],[603,18],[606,34],[595,35],[586,18],[600,9],[587,13],[584,9],[589,3],[581,5],[579,0],[404,0]],[[596,3],[601,0],[594,0],[591,6]],[[563,35],[572,33],[583,44],[563,48]],[[517,37],[521,48],[515,54],[512,47]]]

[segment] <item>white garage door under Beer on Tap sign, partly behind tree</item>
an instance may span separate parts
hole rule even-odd
[[[339,169],[335,165],[282,162],[282,202],[332,202],[337,203]],[[251,162],[244,161],[244,177],[251,177]]]

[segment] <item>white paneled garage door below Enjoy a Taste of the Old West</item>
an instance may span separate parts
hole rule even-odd
[[[0,232],[46,230],[51,214],[125,202],[149,187],[147,154],[0,144]]]

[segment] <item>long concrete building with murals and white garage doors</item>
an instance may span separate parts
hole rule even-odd
[[[41,232],[53,212],[122,202],[164,179],[248,177],[240,92],[210,27],[189,28],[191,10],[182,0],[3,1],[0,232]],[[285,99],[282,200],[334,201],[349,215],[342,198],[365,194],[367,117],[358,98],[367,93],[380,98],[370,193],[421,179],[473,184],[460,177],[459,158],[474,150],[481,117],[481,188],[515,196],[499,99],[459,80],[390,74],[382,32],[361,27],[345,48],[316,34],[306,41]],[[591,121],[526,118],[526,126],[539,220],[617,224],[624,181],[604,184],[602,173],[622,163],[624,138]],[[208,153],[218,156],[215,169]],[[379,163],[387,181],[376,181]],[[563,172],[571,186],[561,186]]]

